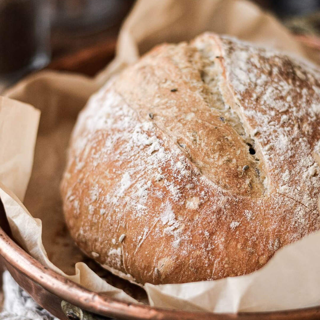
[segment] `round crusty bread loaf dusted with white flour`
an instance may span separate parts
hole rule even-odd
[[[227,36],[162,44],[78,117],[76,244],[137,283],[250,273],[320,228],[320,72]]]

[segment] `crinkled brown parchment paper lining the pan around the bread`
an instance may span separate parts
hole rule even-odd
[[[43,71],[6,92],[7,97],[41,110],[37,136],[39,111],[0,98],[0,198],[12,234],[27,252],[61,275],[126,301],[212,312],[320,305],[320,232],[279,250],[250,275],[189,284],[146,284],[148,300],[143,289],[86,258],[68,235],[59,183],[79,110],[111,75],[154,45],[189,40],[208,30],[309,56],[275,18],[247,1],[138,1],[121,29],[116,59],[95,78]]]

